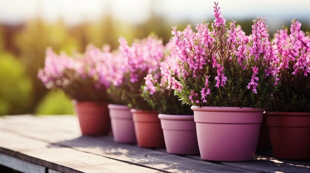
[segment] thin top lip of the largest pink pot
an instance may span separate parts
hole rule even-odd
[[[263,112],[264,108],[256,107],[237,107],[237,106],[191,106],[193,111],[208,111],[208,112]]]

